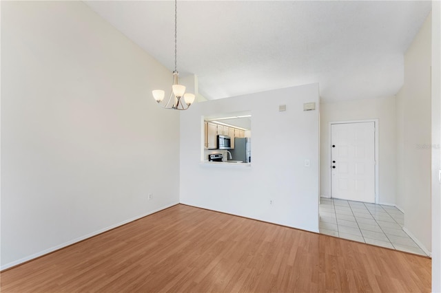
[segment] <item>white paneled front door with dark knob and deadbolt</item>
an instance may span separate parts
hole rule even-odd
[[[331,124],[331,197],[375,202],[375,123]]]

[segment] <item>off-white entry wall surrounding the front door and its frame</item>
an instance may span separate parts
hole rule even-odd
[[[329,122],[378,119],[378,202],[395,204],[395,97],[325,102],[320,105],[320,195],[329,191]]]

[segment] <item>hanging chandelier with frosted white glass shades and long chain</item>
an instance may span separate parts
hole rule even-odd
[[[178,84],[178,69],[176,67],[176,32],[177,32],[177,25],[176,25],[176,0],[174,0],[174,72],[173,72],[173,85],[172,85],[172,92],[170,93],[170,98],[168,98],[167,103],[163,106],[165,109],[174,109],[174,110],[187,110],[190,105],[194,102],[194,94],[185,94],[185,86]],[[153,98],[156,100],[156,102],[161,103],[163,102],[165,91],[162,89],[155,89],[152,91]],[[184,98],[184,102],[182,101],[182,98]]]

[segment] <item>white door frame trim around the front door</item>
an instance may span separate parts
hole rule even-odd
[[[349,123],[363,123],[363,122],[373,122],[374,133],[375,133],[375,203],[378,204],[378,119],[365,119],[365,120],[345,120],[345,121],[329,121],[328,122],[328,147],[327,149],[327,159],[328,159],[328,191],[329,198],[332,198],[332,174],[331,174],[331,125],[332,124],[349,124]]]

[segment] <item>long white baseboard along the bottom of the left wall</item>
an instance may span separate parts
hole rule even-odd
[[[175,206],[176,204],[179,204],[179,202],[175,202],[173,204],[167,204],[166,206],[161,206],[161,208],[156,208],[155,210],[150,210],[150,212],[148,212],[148,213],[145,213],[145,214],[142,214],[142,215],[138,215],[136,217],[133,217],[131,219],[127,219],[125,221],[121,221],[120,223],[114,224],[112,226],[105,227],[103,229],[91,232],[91,233],[89,233],[87,235],[83,235],[83,236],[78,237],[76,239],[72,239],[72,240],[67,241],[65,243],[61,243],[60,245],[53,246],[51,248],[42,250],[40,252],[31,254],[28,257],[23,257],[22,259],[18,259],[17,261],[12,261],[10,263],[6,263],[6,265],[1,265],[0,271],[6,270],[8,268],[12,268],[15,265],[19,265],[21,263],[25,263],[26,261],[31,261],[32,259],[37,259],[37,257],[42,257],[45,254],[48,254],[50,252],[54,252],[55,250],[59,250],[61,248],[65,248],[66,246],[70,246],[70,245],[72,245],[72,244],[74,244],[76,242],[83,241],[85,239],[88,239],[90,237],[94,237],[94,236],[99,235],[99,234],[101,234],[103,232],[106,232],[108,230],[112,230],[112,229],[117,228],[119,226],[123,226],[124,224],[130,223],[131,221],[135,221],[135,220],[141,219],[141,218],[143,218],[145,216],[152,215],[153,213],[156,213],[156,212],[158,212],[160,210],[164,210],[165,208],[170,208],[170,206]]]

